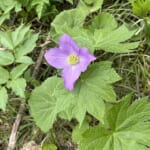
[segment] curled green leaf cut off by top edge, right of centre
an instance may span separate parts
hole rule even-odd
[[[80,0],[78,8],[88,13],[92,13],[98,9],[101,9],[103,0]]]

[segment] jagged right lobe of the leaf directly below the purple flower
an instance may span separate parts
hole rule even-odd
[[[73,98],[71,112],[69,111],[70,115],[75,117],[80,122],[80,125],[84,120],[86,112],[104,122],[104,100],[116,102],[116,95],[110,84],[118,80],[120,80],[120,77],[111,68],[110,62],[100,62],[91,65],[81,75],[81,79],[77,82],[74,91],[71,93]],[[66,109],[65,111],[68,110]]]

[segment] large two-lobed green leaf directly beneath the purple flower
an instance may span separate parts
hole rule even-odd
[[[120,77],[111,68],[110,62],[101,62],[89,67],[73,92],[64,89],[61,79],[50,78],[32,92],[29,100],[31,115],[45,132],[52,127],[57,114],[64,117],[70,109],[71,113],[68,117],[65,115],[65,118],[76,118],[80,125],[86,112],[104,122],[104,100],[116,102],[116,95],[110,84],[118,80]]]

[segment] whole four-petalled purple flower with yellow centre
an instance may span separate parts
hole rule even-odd
[[[75,41],[64,34],[59,40],[59,47],[51,48],[45,53],[47,62],[62,70],[65,87],[71,91],[81,72],[84,72],[96,57],[87,48],[80,48]]]

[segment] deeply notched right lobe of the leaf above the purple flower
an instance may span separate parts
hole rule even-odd
[[[134,35],[135,31],[129,31],[125,25],[116,30],[96,30],[94,33],[95,49],[107,52],[125,53],[135,49],[139,42],[126,42]]]

